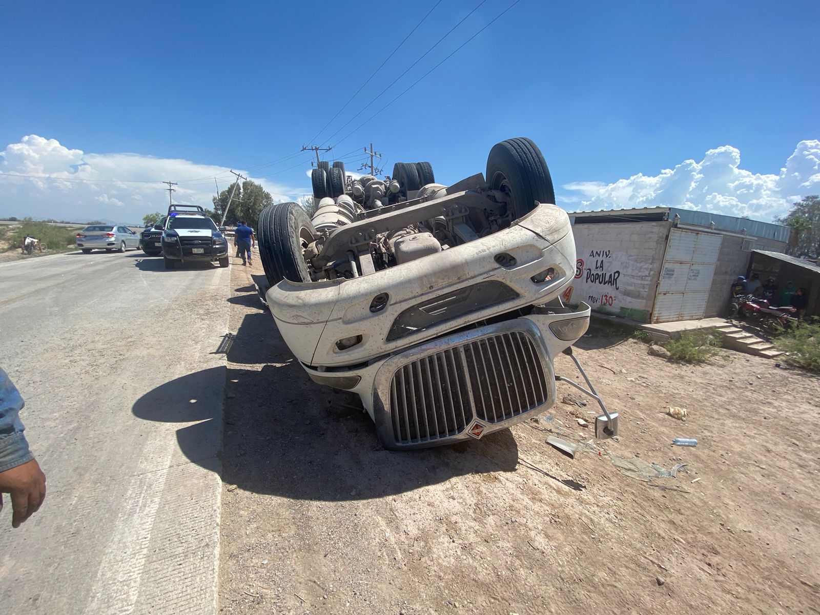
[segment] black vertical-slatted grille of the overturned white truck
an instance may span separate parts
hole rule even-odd
[[[499,423],[547,401],[540,353],[529,335],[510,331],[418,358],[390,380],[396,444],[458,435],[478,418]]]

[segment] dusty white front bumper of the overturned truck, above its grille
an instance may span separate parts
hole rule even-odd
[[[266,299],[299,361],[350,366],[546,303],[571,283],[575,258],[567,213],[540,204],[493,235],[352,280],[282,280]]]

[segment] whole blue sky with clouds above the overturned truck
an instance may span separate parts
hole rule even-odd
[[[764,176],[754,185],[760,198],[751,205],[737,195],[731,203],[699,201],[694,192],[681,198],[693,207],[765,218],[784,199],[813,188],[806,181],[818,172],[811,142],[820,139],[820,5],[814,2],[521,0],[341,140],[512,3],[485,0],[331,137],[478,2],[442,0],[435,7],[320,134],[318,143],[335,148],[328,158],[373,142],[388,172],[396,161],[429,160],[437,180],[449,183],[483,171],[499,140],[529,136],[572,209],[582,198],[617,207],[608,185],[639,173],[657,177],[686,160],[701,164],[708,150],[730,146],[740,153],[736,170],[747,180],[755,184],[755,174]],[[91,165],[90,157],[105,169],[93,176],[105,181],[185,184],[217,175],[227,185],[225,169],[232,167],[249,170],[274,194],[296,198],[309,186],[309,156],[255,167],[309,144],[434,5],[381,2],[368,13],[344,2],[5,2],[0,151],[38,135],[80,154],[60,159],[73,161],[66,171],[57,168],[60,160],[43,163],[42,144],[30,141],[7,149],[0,172],[67,177],[60,174]],[[804,141],[809,145],[795,164],[807,177],[787,187],[765,180],[779,174]],[[54,155],[55,147],[48,147]],[[108,157],[117,153],[139,156]],[[140,157],[177,162],[152,166]],[[352,170],[358,165],[349,158]],[[199,181],[189,187],[204,195],[211,188]],[[90,216],[113,207],[107,217],[131,220],[161,207],[166,197],[162,185],[146,185],[132,199],[113,183],[88,192],[74,182],[59,194],[52,183],[0,177],[0,216],[25,214],[27,207],[66,216],[73,207]],[[663,203],[654,186],[649,198],[632,203],[680,204]],[[715,182],[708,189],[721,196]],[[777,203],[769,202],[775,197]]]

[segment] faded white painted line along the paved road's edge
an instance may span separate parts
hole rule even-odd
[[[139,594],[154,517],[165,489],[171,455],[175,449],[173,430],[153,435],[139,458],[123,508],[114,524],[97,580],[85,613],[131,613]]]

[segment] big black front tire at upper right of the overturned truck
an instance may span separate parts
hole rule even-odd
[[[535,202],[555,203],[553,180],[540,149],[517,137],[495,144],[487,157],[487,184],[509,194],[510,221],[535,209]]]

